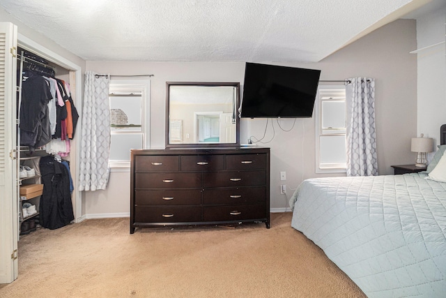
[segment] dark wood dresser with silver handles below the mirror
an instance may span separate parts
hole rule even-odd
[[[130,234],[163,225],[264,222],[270,149],[132,150]]]

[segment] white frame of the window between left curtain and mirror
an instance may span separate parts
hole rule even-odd
[[[112,135],[121,134],[142,134],[142,149],[150,148],[150,87],[151,80],[147,79],[127,79],[127,80],[110,80],[109,94],[114,92],[141,92],[141,131],[110,131]],[[111,149],[111,148],[110,148]],[[112,172],[128,172],[130,171],[129,161],[110,161],[109,167]]]

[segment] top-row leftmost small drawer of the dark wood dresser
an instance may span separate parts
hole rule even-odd
[[[179,170],[179,156],[135,156],[135,172],[172,172]]]

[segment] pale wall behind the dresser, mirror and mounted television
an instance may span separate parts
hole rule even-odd
[[[378,170],[392,174],[390,165],[412,163],[410,137],[417,133],[417,58],[409,54],[416,45],[415,20],[397,20],[344,47],[316,64],[274,63],[318,68],[321,80],[344,80],[367,76],[376,79],[376,135]],[[244,62],[144,62],[87,61],[87,70],[115,75],[153,74],[151,77],[151,146],[164,148],[166,82],[240,82],[243,90]],[[332,83],[327,83],[332,84]],[[271,207],[283,209],[302,179],[321,177],[314,165],[314,118],[296,119],[290,132],[280,131],[265,144],[271,148]],[[240,142],[250,135],[260,138],[266,119],[241,119]],[[281,120],[284,129],[293,119]],[[265,140],[272,137],[269,126]],[[279,172],[286,171],[288,196],[279,194]],[[114,176],[119,175],[119,179]],[[112,183],[116,181],[116,184]],[[112,172],[107,191],[86,192],[86,214],[128,213],[130,174]]]

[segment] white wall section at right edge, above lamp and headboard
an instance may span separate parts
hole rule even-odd
[[[446,4],[417,18],[417,48],[445,41]],[[440,143],[440,125],[446,124],[446,46],[436,45],[415,54],[418,63],[417,133]],[[434,153],[429,154],[432,157]]]

